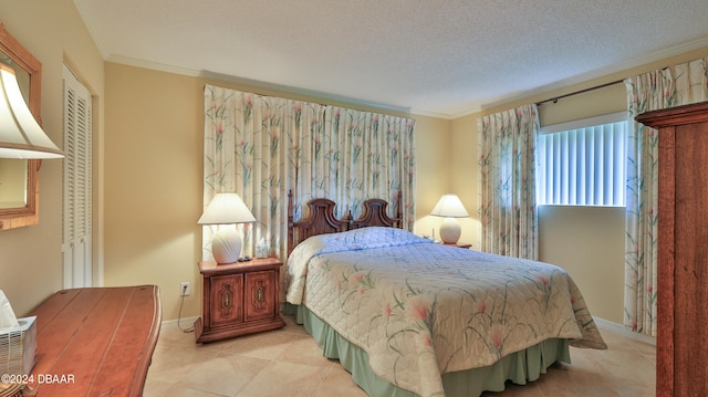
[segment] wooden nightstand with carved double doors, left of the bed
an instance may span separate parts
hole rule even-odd
[[[275,330],[280,317],[280,267],[275,258],[217,264],[199,262],[204,279],[201,317],[195,322],[197,343]]]

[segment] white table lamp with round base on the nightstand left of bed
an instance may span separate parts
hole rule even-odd
[[[256,222],[256,218],[237,194],[217,194],[197,221],[199,224]],[[241,233],[232,228],[219,229],[211,241],[217,263],[233,263],[241,254]]]

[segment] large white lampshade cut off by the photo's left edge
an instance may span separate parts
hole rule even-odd
[[[0,64],[0,158],[64,157],[27,106],[14,71]]]

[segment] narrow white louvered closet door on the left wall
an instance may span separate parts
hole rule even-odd
[[[92,286],[91,94],[64,66],[64,288]]]

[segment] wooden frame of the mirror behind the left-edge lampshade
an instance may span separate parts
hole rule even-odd
[[[42,63],[13,38],[0,22],[0,51],[30,75],[30,112],[42,125],[40,117]],[[24,207],[0,208],[0,230],[37,224],[40,220],[40,165],[41,160],[27,160],[27,202]]]

